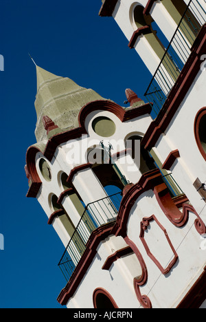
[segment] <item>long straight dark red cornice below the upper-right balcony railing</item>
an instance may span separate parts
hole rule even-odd
[[[172,90],[159,112],[159,115],[150,124],[144,138],[142,139],[142,144],[145,149],[152,149],[161,136],[161,133],[168,128],[168,125],[170,125],[177,109],[192,86],[194,79],[201,70],[201,64],[203,62],[201,61],[201,55],[206,52],[206,23],[198,33],[191,51],[192,53],[190,54],[187,63],[185,63],[174,87],[172,87]]]

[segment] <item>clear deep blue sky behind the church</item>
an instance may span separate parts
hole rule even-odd
[[[36,64],[124,106],[125,89],[140,98],[150,74],[101,0],[1,0],[0,308],[62,308],[64,252],[36,199],[25,197],[25,153],[36,142]]]

